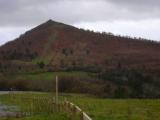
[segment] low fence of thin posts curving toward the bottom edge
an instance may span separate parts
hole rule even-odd
[[[53,97],[29,97],[14,93],[10,93],[10,99],[13,103],[18,101],[19,106],[22,106],[17,116],[59,112],[68,114],[72,120],[92,120],[80,107],[67,100],[56,102]],[[23,104],[27,104],[27,107],[23,107]]]

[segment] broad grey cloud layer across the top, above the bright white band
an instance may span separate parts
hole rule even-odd
[[[159,0],[0,0],[0,26],[160,18]]]

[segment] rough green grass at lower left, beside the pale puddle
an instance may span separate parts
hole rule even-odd
[[[53,95],[46,93],[30,92],[1,95],[1,104],[17,106],[18,110],[8,109],[8,111],[20,114],[15,117],[6,116],[0,120],[70,120],[70,115],[66,112],[57,111],[53,106],[52,99]]]

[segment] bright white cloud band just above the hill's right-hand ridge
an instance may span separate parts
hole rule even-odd
[[[150,40],[160,41],[160,21],[159,20],[141,20],[141,21],[99,21],[99,22],[81,22],[74,26],[100,32],[112,32],[115,35],[142,37]],[[133,32],[134,31],[134,32]]]

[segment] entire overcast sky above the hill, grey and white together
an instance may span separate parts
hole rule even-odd
[[[0,0],[0,44],[48,19],[160,40],[159,6],[159,0]]]

